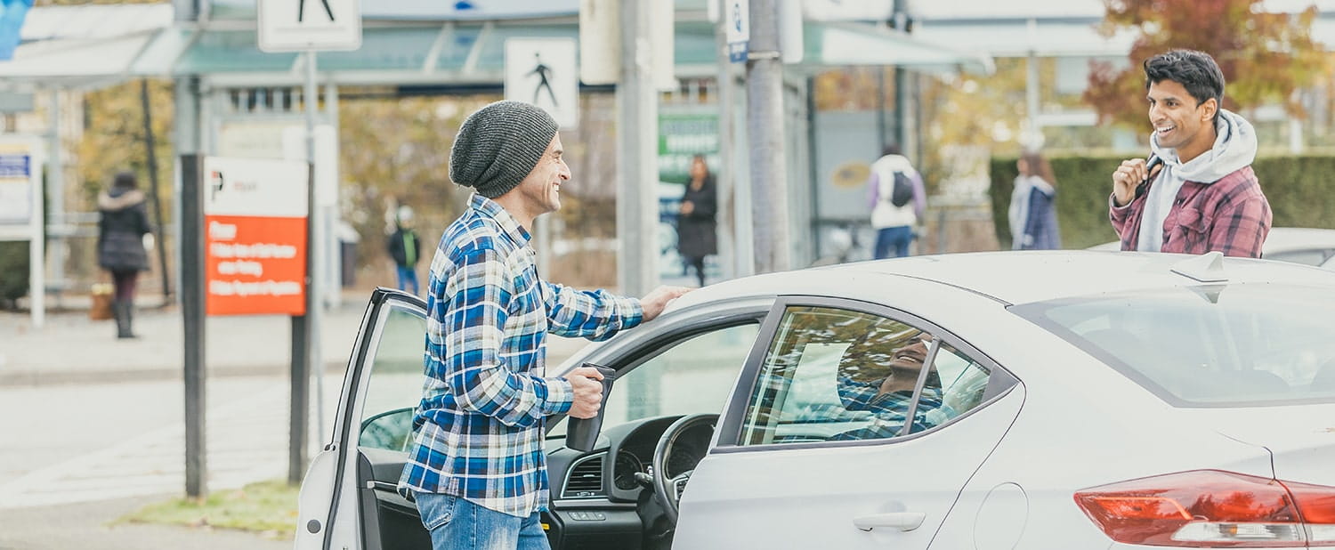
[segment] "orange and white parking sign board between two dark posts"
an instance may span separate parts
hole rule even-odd
[[[306,314],[306,163],[204,159],[204,311]]]

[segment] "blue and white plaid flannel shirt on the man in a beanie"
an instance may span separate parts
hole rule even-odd
[[[643,318],[638,299],[539,279],[529,240],[481,195],[441,236],[405,497],[451,494],[517,517],[545,509],[543,418],[573,399],[570,382],[543,378],[547,331],[598,340]]]

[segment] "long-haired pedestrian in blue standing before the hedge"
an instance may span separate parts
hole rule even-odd
[[[1057,250],[1061,248],[1061,231],[1057,228],[1057,179],[1052,175],[1052,164],[1037,152],[1025,152],[1016,162],[1020,175],[1015,178],[1011,192],[1011,208],[1007,211],[1011,222],[1011,250]]]

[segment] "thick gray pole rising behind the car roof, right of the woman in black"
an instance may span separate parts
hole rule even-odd
[[[788,174],[784,170],[784,65],[778,51],[778,5],[750,0],[746,60],[746,135],[750,142],[756,271],[789,268]]]

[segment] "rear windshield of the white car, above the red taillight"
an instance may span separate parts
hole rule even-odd
[[[1335,402],[1335,296],[1327,287],[1179,287],[1012,311],[1175,406]]]

